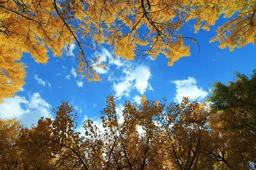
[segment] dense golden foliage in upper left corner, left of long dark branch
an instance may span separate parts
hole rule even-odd
[[[60,49],[70,42],[60,18],[51,15],[51,6],[50,1],[0,3],[0,100],[12,97],[25,83],[26,65],[20,62],[23,53],[46,64],[48,48],[60,56]]]

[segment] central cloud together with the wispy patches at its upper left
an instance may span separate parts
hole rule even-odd
[[[103,47],[100,52],[93,53],[93,57],[99,57],[96,64],[106,64],[106,67],[103,68],[95,67],[95,71],[108,75],[108,81],[113,83],[112,89],[116,99],[121,99],[122,96],[129,97],[132,90],[137,90],[140,94],[146,90],[153,90],[148,83],[152,76],[148,66],[115,57],[113,53]]]

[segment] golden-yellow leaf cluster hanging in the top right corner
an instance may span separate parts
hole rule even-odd
[[[230,51],[241,48],[249,43],[255,44],[255,1],[193,1],[195,7],[191,10],[190,18],[196,19],[195,32],[202,29],[209,31],[209,26],[214,25],[223,15],[230,18],[217,29],[217,35],[210,42],[219,41],[220,48],[228,47]],[[196,6],[198,6],[196,8]]]

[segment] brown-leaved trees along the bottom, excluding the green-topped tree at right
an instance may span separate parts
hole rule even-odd
[[[42,118],[31,129],[20,127],[15,131],[19,138],[4,138],[17,146],[15,152],[20,151],[19,160],[15,156],[10,161],[16,162],[16,168],[32,169],[195,169],[204,164],[200,159],[207,125],[198,103],[186,99],[180,105],[170,104],[164,113],[165,104],[159,101],[145,101],[143,106],[127,102],[122,124],[115,99],[109,96],[107,103],[102,133],[92,120],[83,124],[84,137],[75,132],[76,115],[72,116],[68,103],[54,111],[55,120]]]

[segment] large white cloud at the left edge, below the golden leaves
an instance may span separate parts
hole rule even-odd
[[[1,118],[15,118],[22,124],[30,127],[31,124],[41,118],[53,118],[51,115],[51,105],[47,103],[39,93],[29,96],[29,100],[25,97],[15,96],[4,99],[5,103],[0,104]]]

